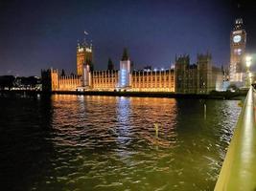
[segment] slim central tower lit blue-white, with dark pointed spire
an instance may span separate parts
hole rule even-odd
[[[125,49],[122,59],[120,61],[120,71],[118,86],[121,89],[126,89],[130,86],[130,61],[128,57],[128,50]]]

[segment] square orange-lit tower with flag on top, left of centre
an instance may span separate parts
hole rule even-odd
[[[82,75],[83,65],[89,65],[90,71],[93,71],[92,63],[92,45],[89,46],[85,41],[77,46],[77,74]]]

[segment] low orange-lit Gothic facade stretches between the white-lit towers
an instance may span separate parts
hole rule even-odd
[[[42,71],[44,91],[76,91],[82,86],[80,75],[61,76],[58,70]],[[91,91],[115,91],[118,89],[118,71],[93,71]],[[133,92],[175,92],[175,71],[133,71],[129,91]]]

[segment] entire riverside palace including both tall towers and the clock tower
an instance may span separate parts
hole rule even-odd
[[[229,83],[244,82],[243,57],[246,32],[242,19],[235,21],[230,35]],[[198,54],[197,62],[190,63],[187,54],[175,57],[175,67],[151,70],[131,68],[128,50],[120,57],[119,70],[108,62],[107,70],[95,71],[93,47],[86,42],[77,45],[77,74],[60,74],[57,69],[41,71],[42,90],[56,91],[130,91],[170,92],[176,94],[208,94],[223,89],[221,68],[212,63],[211,53]]]

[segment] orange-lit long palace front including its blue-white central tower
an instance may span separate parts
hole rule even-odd
[[[175,92],[175,70],[131,71],[127,50],[123,53],[119,71],[91,71],[90,65],[85,63],[81,75],[78,71],[78,75],[62,76],[58,70],[50,69],[42,71],[41,76],[44,91]]]

